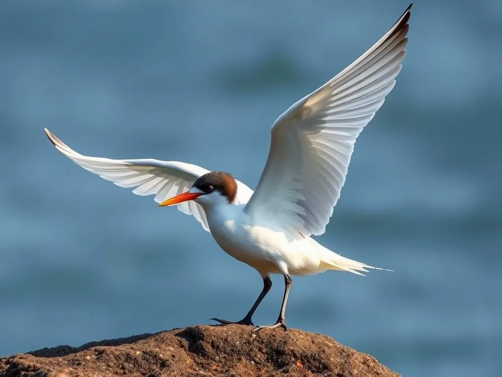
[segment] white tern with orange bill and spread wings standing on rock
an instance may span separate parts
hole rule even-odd
[[[277,322],[255,329],[286,329],[292,275],[326,270],[362,275],[376,268],[343,257],[311,236],[325,232],[356,138],[396,83],[411,7],[369,50],[274,122],[269,155],[254,192],[224,171],[178,161],[84,156],[49,130],[45,133],[84,169],[118,186],[135,187],[134,194],[155,195],[161,207],[177,205],[193,215],[221,249],[260,273],[263,290],[244,318],[212,320],[254,326],[253,314],[272,287],[270,275],[282,274],[285,290]]]

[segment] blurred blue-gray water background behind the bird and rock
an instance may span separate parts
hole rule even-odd
[[[225,169],[254,188],[275,118],[408,6],[0,3],[0,354],[239,319],[260,276],[197,222],[71,163],[77,151]],[[296,278],[292,327],[406,376],[495,375],[502,349],[502,3],[419,1],[398,82],[324,236],[395,269]],[[277,318],[282,278],[255,316]]]

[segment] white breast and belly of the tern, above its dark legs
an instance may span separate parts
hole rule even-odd
[[[241,206],[207,213],[209,229],[218,245],[229,255],[262,275],[289,273],[304,275],[319,271],[319,256],[312,249],[314,240],[288,242],[282,232],[250,224]]]

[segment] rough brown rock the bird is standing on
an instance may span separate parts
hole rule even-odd
[[[373,357],[298,329],[194,326],[0,358],[0,376],[399,376]]]

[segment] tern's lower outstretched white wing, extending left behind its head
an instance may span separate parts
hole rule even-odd
[[[136,195],[154,195],[157,203],[190,190],[193,182],[209,170],[203,167],[178,161],[160,161],[154,159],[113,160],[110,158],[89,157],[75,152],[45,129],[45,133],[54,146],[84,169],[110,180],[120,187],[136,187]],[[247,203],[253,190],[237,181],[237,203]],[[206,214],[200,205],[190,201],[178,204],[178,209],[193,215],[202,227],[209,231]]]

